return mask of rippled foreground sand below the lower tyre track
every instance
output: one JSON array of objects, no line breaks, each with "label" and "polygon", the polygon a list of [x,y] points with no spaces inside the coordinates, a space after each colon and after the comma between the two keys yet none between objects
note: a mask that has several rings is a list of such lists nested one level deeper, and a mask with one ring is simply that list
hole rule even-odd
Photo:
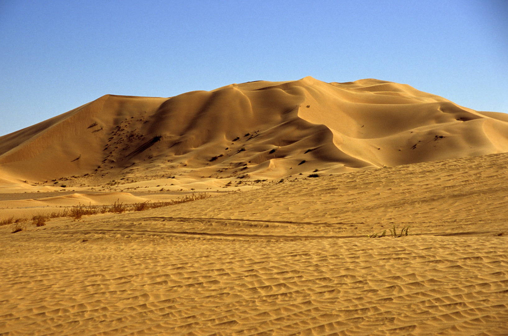
[{"label": "rippled foreground sand below the lower tyre track", "polygon": [[[32,246],[18,241],[0,272],[0,330],[9,335],[508,331],[504,237],[247,239],[143,231],[147,228],[102,234],[59,228],[30,235]],[[90,240],[80,242],[83,238]]]}]

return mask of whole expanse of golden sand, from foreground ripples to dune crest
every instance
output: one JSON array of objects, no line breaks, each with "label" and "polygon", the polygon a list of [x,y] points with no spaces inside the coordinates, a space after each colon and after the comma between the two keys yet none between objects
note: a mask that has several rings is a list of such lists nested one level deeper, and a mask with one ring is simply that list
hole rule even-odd
[{"label": "whole expanse of golden sand, from foreground ripples to dune crest", "polygon": [[306,77],[104,96],[0,137],[3,218],[214,196],[0,226],[0,335],[506,335],[507,127]]}]

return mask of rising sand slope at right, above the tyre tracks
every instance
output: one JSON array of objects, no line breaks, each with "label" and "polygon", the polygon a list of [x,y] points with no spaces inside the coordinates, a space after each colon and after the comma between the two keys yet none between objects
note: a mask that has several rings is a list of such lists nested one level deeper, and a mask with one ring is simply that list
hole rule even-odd
[{"label": "rising sand slope at right, above the tyre tracks", "polygon": [[[297,175],[269,189],[182,204],[173,217],[208,217],[316,224],[391,223],[462,226],[485,230],[505,223],[508,154],[461,158],[317,178]],[[320,173],[317,172],[317,175]],[[220,206],[214,206],[220,202]],[[157,210],[154,210],[157,213]],[[164,209],[158,210],[161,215]],[[481,223],[489,223],[485,226]],[[439,226],[436,226],[439,224]]]}]

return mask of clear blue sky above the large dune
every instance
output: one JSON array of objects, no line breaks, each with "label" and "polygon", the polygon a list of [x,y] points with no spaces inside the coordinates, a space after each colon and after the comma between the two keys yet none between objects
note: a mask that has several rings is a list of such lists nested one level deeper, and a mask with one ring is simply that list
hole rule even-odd
[{"label": "clear blue sky above the large dune", "polygon": [[0,135],[105,94],[305,76],[508,112],[508,1],[0,0]]}]

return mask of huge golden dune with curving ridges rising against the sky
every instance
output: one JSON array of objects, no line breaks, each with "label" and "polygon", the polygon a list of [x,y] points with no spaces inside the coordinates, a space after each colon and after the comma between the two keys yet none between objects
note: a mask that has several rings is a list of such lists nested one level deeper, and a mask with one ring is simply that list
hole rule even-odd
[{"label": "huge golden dune with curving ridges rising against the sky", "polygon": [[279,178],[508,151],[508,119],[376,79],[106,95],[0,137],[7,179]]}]

